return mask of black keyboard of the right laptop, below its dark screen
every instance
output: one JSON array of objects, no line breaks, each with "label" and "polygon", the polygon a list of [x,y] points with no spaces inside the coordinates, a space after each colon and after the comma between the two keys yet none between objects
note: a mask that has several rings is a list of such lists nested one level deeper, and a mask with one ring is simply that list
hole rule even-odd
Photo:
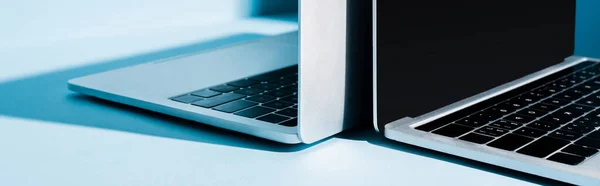
[{"label": "black keyboard of the right laptop, below its dark screen", "polygon": [[582,62],[416,127],[578,165],[600,149],[600,65]]}]

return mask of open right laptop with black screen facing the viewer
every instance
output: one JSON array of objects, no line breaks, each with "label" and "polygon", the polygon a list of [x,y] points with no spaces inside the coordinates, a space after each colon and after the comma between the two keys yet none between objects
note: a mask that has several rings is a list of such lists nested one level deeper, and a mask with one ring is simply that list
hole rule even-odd
[{"label": "open right laptop with black screen facing the viewer", "polygon": [[600,185],[600,60],[574,0],[373,1],[374,127],[387,138]]}]

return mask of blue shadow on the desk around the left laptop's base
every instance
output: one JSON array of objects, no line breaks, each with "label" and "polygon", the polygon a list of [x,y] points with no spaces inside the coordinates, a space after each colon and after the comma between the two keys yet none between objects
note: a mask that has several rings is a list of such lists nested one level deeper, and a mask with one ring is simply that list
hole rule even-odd
[{"label": "blue shadow on the desk around the left laptop's base", "polygon": [[274,152],[295,152],[310,145],[286,145],[119,103],[71,92],[67,80],[167,57],[197,53],[263,37],[239,34],[93,65],[0,82],[0,115],[50,121],[179,140]]}]

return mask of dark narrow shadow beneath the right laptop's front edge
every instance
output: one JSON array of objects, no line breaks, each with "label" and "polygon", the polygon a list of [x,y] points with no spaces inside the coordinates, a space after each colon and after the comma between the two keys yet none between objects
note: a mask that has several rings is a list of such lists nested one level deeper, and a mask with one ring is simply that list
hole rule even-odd
[{"label": "dark narrow shadow beneath the right laptop's front edge", "polygon": [[358,141],[366,141],[372,145],[378,145],[385,148],[390,148],[402,152],[411,153],[418,156],[425,156],[435,160],[441,160],[465,167],[475,168],[482,171],[491,172],[494,174],[531,182],[539,185],[570,185],[568,183],[559,182],[556,180],[547,179],[544,177],[527,174],[523,172],[518,172],[515,170],[507,169],[504,167],[499,167],[487,163],[482,163],[466,158],[462,158],[459,156],[454,156],[450,154],[445,154],[425,148],[421,148],[418,146],[400,143],[396,141],[392,141],[390,139],[385,138],[382,134],[374,132],[374,129],[371,125],[361,126],[358,128],[354,128],[348,131],[345,131],[341,134],[335,136],[337,138],[349,139],[349,140],[358,140]]}]

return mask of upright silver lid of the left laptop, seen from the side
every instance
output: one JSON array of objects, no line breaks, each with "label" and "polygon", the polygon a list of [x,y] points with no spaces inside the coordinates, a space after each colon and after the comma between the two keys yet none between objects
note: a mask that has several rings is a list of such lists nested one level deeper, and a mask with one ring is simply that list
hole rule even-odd
[{"label": "upright silver lid of the left laptop, seen from the side", "polygon": [[[364,113],[371,110],[371,11],[364,0],[299,1],[298,134],[304,143],[370,122]],[[366,112],[356,114],[360,109]]]}]

